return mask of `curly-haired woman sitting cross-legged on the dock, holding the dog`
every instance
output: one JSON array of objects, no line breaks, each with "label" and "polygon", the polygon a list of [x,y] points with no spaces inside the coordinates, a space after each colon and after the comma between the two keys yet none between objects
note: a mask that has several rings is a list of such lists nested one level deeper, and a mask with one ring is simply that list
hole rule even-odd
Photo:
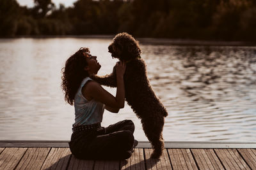
[{"label": "curly-haired woman sitting cross-legged on the dock, holding the dog", "polygon": [[134,142],[134,124],[124,120],[109,127],[101,127],[104,108],[118,113],[124,108],[124,62],[116,66],[116,96],[104,90],[90,76],[100,69],[97,57],[88,48],[80,48],[63,68],[61,87],[65,101],[75,107],[75,123],[69,143],[72,154],[79,159],[127,159]]}]

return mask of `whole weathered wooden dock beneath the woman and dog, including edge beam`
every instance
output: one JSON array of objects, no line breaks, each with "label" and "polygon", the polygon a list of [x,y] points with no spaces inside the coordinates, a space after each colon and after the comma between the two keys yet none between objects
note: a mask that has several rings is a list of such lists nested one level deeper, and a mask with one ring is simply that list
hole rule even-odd
[{"label": "whole weathered wooden dock beneath the woman and dog, including edge beam", "polygon": [[256,169],[256,143],[169,142],[159,160],[149,146],[140,142],[127,160],[100,161],[76,159],[67,141],[0,141],[0,169]]}]

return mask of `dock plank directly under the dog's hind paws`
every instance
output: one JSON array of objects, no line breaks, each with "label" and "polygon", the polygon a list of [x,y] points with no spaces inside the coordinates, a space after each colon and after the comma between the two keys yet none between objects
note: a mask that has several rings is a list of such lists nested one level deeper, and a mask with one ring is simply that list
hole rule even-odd
[{"label": "dock plank directly under the dog's hind paws", "polygon": [[150,155],[153,152],[151,148],[145,148],[145,161],[147,169],[172,169],[168,152],[166,149],[163,150],[163,155],[159,159],[150,159]]}]

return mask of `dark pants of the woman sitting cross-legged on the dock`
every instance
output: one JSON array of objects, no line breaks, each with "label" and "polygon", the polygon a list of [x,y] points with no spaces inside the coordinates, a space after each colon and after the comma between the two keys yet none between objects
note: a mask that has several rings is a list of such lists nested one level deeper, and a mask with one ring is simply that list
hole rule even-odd
[{"label": "dark pants of the woman sitting cross-legged on the dock", "polygon": [[78,159],[128,159],[134,143],[133,132],[133,122],[123,120],[106,128],[73,132],[69,147]]}]

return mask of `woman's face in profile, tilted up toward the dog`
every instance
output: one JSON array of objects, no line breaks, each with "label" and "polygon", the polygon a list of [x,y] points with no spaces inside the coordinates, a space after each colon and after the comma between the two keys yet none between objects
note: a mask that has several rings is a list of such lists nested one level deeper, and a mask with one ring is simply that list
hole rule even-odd
[{"label": "woman's face in profile, tilted up toward the dog", "polygon": [[84,67],[89,74],[97,74],[100,69],[100,64],[97,61],[97,57],[91,55],[90,53],[85,53],[86,62],[88,66]]}]

